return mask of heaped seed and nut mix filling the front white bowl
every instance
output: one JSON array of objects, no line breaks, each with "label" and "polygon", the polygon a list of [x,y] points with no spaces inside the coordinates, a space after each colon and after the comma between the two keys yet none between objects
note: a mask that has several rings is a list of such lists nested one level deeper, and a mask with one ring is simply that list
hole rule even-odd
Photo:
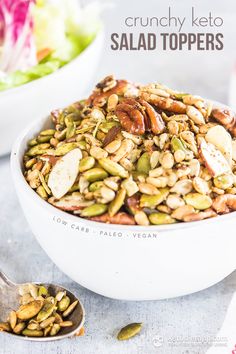
[{"label": "heaped seed and nut mix filling the front white bowl", "polygon": [[236,210],[236,116],[229,109],[111,75],[51,120],[28,142],[24,175],[61,210],[143,226]]}]

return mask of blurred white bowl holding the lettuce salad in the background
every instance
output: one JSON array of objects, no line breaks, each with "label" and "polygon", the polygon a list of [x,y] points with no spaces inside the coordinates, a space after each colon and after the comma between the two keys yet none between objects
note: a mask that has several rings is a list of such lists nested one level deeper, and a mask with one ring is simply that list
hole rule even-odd
[{"label": "blurred white bowl holding the lettuce salad in the background", "polygon": [[19,131],[32,119],[83,97],[97,68],[103,37],[100,32],[80,55],[54,73],[0,92],[0,156],[11,151]]}]

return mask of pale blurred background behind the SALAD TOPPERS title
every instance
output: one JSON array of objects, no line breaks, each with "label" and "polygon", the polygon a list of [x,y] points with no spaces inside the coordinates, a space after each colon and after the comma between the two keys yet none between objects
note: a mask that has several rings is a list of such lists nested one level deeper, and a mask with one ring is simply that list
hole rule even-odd
[{"label": "pale blurred background behind the SALAD TOPPERS title", "polygon": [[[88,1],[84,1],[87,3]],[[165,1],[165,0],[113,0],[103,14],[105,22],[105,44],[95,81],[104,75],[114,73],[117,77],[138,82],[159,81],[180,90],[193,92],[224,103],[228,103],[230,79],[236,62],[236,2],[235,0],[214,1]],[[220,16],[222,27],[216,32],[224,35],[222,51],[112,51],[110,35],[113,32],[127,32],[124,19],[127,16],[165,16],[168,6],[175,16],[191,17],[194,6],[199,16]],[[193,32],[190,20],[185,32]],[[130,28],[130,32],[163,32],[160,28]],[[205,27],[201,32],[214,32]],[[235,92],[231,94],[231,103]]]}]

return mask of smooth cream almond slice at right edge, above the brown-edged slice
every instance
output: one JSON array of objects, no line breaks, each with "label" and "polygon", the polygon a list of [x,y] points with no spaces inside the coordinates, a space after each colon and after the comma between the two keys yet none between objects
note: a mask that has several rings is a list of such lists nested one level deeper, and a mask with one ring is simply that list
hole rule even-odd
[{"label": "smooth cream almond slice at right edge, above the brown-edged slice", "polygon": [[210,128],[205,137],[208,143],[213,144],[226,158],[232,163],[232,139],[227,130],[222,125],[216,125]]}]

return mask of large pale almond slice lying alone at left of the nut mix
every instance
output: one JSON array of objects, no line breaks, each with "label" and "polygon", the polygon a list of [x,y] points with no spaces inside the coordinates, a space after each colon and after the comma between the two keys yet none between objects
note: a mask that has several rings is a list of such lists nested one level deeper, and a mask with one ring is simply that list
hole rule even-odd
[{"label": "large pale almond slice lying alone at left of the nut mix", "polygon": [[48,186],[55,198],[62,198],[75,183],[81,158],[81,150],[76,148],[62,156],[53,166]]}]

